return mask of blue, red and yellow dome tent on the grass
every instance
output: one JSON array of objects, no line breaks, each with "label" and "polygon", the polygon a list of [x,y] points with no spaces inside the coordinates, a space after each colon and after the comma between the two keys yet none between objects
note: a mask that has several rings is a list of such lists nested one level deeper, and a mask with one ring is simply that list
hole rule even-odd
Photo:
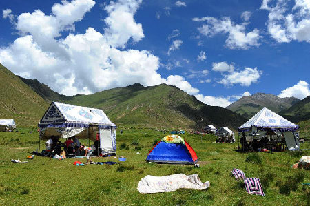
[{"label": "blue, red and yellow dome tent on the grass", "polygon": [[180,136],[168,135],[161,139],[147,155],[147,162],[195,164],[198,157],[193,148]]}]

